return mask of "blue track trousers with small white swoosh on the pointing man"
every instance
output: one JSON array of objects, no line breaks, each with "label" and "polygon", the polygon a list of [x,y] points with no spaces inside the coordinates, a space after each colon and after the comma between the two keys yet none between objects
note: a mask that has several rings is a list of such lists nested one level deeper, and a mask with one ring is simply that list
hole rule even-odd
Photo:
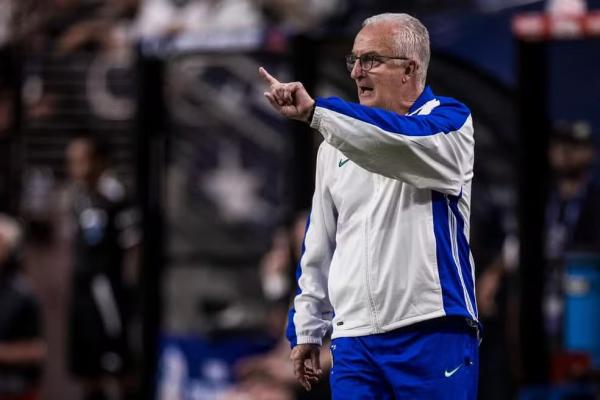
[{"label": "blue track trousers with small white swoosh on the pointing man", "polygon": [[464,319],[438,318],[332,341],[334,400],[475,400],[479,339]]}]

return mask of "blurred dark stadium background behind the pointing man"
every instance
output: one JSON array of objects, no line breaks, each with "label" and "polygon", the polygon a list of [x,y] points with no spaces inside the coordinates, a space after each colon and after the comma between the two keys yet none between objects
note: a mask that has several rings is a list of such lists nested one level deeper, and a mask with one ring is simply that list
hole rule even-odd
[{"label": "blurred dark stadium background behind the pointing man", "polygon": [[[476,131],[480,399],[600,399],[600,1],[0,0],[0,400],[327,399],[283,340],[365,17],[431,36]],[[324,346],[324,365],[328,350]]]}]

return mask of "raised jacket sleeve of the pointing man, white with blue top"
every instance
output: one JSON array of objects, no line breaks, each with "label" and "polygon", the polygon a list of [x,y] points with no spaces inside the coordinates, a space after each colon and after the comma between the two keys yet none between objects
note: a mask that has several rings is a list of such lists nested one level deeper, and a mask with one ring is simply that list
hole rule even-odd
[{"label": "raised jacket sleeve of the pointing man, white with blue top", "polygon": [[458,195],[473,175],[473,125],[452,99],[429,113],[399,115],[339,98],[318,98],[311,126],[361,167],[418,188]]}]

